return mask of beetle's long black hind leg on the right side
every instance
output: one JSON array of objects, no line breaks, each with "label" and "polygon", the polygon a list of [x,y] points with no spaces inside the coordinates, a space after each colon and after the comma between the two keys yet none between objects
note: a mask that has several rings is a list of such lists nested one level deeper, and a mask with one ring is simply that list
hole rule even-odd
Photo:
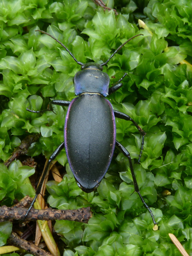
[{"label": "beetle's long black hind leg on the right side", "polygon": [[141,196],[140,194],[140,191],[139,191],[139,187],[138,187],[138,184],[137,184],[137,180],[136,180],[136,177],[135,177],[135,173],[134,173],[134,170],[133,170],[133,165],[132,165],[132,161],[131,161],[131,156],[130,156],[130,153],[127,151],[127,149],[121,144],[119,143],[117,140],[116,140],[116,146],[121,150],[121,152],[124,154],[124,156],[126,156],[129,160],[129,165],[130,165],[130,170],[131,170],[131,174],[132,174],[132,178],[133,178],[133,185],[134,185],[134,189],[135,189],[135,192],[138,193],[138,195],[140,196],[140,199],[142,201],[142,203],[144,204],[144,206],[148,209],[148,211],[150,212],[151,214],[151,218],[153,220],[153,223],[154,225],[156,225],[156,221],[154,219],[154,215],[151,211],[151,209],[148,207],[148,205],[145,203],[145,200],[143,199],[143,197]]}]

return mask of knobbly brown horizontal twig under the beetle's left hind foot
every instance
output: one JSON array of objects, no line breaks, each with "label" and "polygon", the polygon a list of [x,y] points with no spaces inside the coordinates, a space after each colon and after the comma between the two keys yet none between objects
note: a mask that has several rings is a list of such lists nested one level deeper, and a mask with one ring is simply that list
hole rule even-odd
[{"label": "knobbly brown horizontal twig under the beetle's left hind foot", "polygon": [[[0,222],[12,220],[24,220],[27,209],[11,208],[7,206],[0,207]],[[77,210],[55,210],[47,208],[46,210],[36,210],[32,208],[25,218],[25,221],[36,220],[71,220],[87,223],[92,217],[90,207],[84,207]]]}]

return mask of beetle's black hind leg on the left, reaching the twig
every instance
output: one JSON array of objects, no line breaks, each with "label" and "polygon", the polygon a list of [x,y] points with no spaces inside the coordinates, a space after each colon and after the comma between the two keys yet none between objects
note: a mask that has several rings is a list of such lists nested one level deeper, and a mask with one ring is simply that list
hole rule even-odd
[{"label": "beetle's black hind leg on the left, reaching the twig", "polygon": [[37,189],[36,189],[36,192],[35,192],[36,195],[35,195],[35,197],[34,197],[32,203],[31,203],[31,205],[29,206],[29,208],[28,208],[28,210],[27,210],[27,212],[26,212],[24,219],[27,217],[29,211],[31,210],[31,207],[32,207],[33,204],[35,203],[35,200],[36,200],[36,198],[37,198],[37,195],[38,195],[38,194],[40,193],[40,191],[41,191],[41,187],[42,187],[43,181],[44,181],[44,179],[45,179],[45,177],[46,177],[47,171],[49,170],[49,166],[50,166],[51,162],[56,158],[56,156],[61,152],[61,150],[62,150],[63,148],[65,148],[65,142],[62,142],[62,143],[59,145],[59,147],[58,147],[58,148],[52,153],[52,155],[50,156],[49,161],[47,162],[47,164],[46,164],[46,166],[45,166],[45,169],[44,169],[43,175],[42,175],[42,177],[41,177],[41,180],[40,180],[40,182],[39,182],[39,185],[38,185],[38,187],[37,187]]}]

